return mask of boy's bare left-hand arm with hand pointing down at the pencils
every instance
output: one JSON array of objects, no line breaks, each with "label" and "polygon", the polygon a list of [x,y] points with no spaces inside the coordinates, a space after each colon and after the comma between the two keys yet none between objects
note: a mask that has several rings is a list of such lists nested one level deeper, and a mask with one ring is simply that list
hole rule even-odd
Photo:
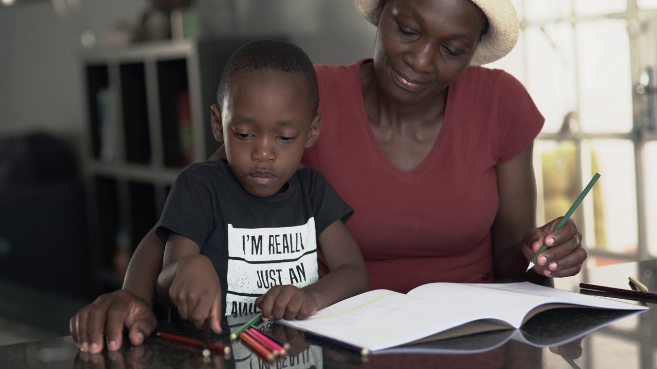
[{"label": "boy's bare left-hand arm with hand pointing down at the pencils", "polygon": [[156,288],[160,297],[177,308],[181,318],[202,329],[209,317],[212,329],[221,333],[219,277],[212,261],[199,251],[196,242],[171,232]]}]

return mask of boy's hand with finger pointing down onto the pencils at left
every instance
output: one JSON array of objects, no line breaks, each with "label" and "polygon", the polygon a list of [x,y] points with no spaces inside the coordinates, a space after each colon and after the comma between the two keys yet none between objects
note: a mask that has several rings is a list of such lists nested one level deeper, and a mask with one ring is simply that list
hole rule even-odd
[{"label": "boy's hand with finger pointing down onto the pencils at left", "polygon": [[209,316],[212,330],[221,333],[221,284],[208,257],[190,255],[177,262],[169,298],[181,318],[203,329]]}]

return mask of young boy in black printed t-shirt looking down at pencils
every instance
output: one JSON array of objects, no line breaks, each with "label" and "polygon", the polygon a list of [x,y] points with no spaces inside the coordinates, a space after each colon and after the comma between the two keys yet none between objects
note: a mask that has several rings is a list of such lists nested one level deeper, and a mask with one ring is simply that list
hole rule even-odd
[{"label": "young boy in black printed t-shirt looking down at pencils", "polygon": [[[229,59],[212,106],[227,160],[178,176],[156,234],[166,243],[157,282],[181,318],[219,333],[226,315],[304,319],[365,292],[367,271],[344,226],[353,209],[321,173],[298,169],[321,128],[312,62],[273,39]],[[317,247],[330,272],[319,279]]]}]

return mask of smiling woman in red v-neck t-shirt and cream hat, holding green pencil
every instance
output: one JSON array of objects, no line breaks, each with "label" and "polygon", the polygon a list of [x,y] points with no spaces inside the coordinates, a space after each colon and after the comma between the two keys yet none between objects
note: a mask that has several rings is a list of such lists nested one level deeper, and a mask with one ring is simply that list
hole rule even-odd
[{"label": "smiling woman in red v-neck t-shirt and cream hat, holding green pencil", "polygon": [[[516,79],[476,66],[514,47],[510,2],[355,4],[377,26],[374,57],[316,67],[323,129],[303,162],[355,209],[348,227],[371,288],[406,292],[426,282],[524,276],[543,242],[551,247],[533,272],[578,273],[586,251],[574,222],[556,232],[558,219],[535,228],[532,142],[543,117]],[[124,290],[101,295],[71,319],[82,351],[100,351],[104,331],[110,350],[120,347],[124,326],[133,344],[152,332],[163,249],[149,233]]]}]

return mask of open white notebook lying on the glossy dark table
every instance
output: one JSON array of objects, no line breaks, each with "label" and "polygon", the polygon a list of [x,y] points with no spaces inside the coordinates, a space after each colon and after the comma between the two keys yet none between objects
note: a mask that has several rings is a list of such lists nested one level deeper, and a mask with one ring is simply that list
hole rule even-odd
[{"label": "open white notebook lying on the glossy dark table", "polygon": [[[541,312],[577,307],[627,312],[648,309],[530,282],[438,282],[424,284],[406,294],[389,290],[361,293],[305,320],[279,322],[313,336],[376,353],[393,347],[499,330],[510,330],[508,340],[514,335],[513,330]],[[516,339],[523,338],[516,334]]]}]

